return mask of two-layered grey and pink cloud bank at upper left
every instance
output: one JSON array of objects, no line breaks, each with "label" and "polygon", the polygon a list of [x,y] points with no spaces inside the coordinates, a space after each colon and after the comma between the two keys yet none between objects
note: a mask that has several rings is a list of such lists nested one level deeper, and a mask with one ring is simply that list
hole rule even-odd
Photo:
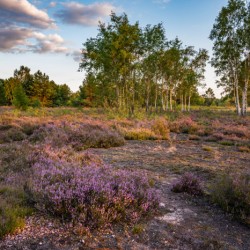
[{"label": "two-layered grey and pink cloud bank at upper left", "polygon": [[27,0],[0,1],[1,52],[65,53],[68,49],[61,36],[41,32],[55,27],[45,11]]}]

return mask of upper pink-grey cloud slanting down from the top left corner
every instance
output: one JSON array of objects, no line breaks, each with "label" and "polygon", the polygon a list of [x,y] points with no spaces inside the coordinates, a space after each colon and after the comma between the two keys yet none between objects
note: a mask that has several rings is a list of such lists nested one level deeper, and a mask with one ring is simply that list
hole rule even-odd
[{"label": "upper pink-grey cloud slanting down from the top left corner", "polygon": [[55,28],[55,23],[48,14],[27,0],[1,0],[0,23],[8,25],[23,23],[42,29]]}]

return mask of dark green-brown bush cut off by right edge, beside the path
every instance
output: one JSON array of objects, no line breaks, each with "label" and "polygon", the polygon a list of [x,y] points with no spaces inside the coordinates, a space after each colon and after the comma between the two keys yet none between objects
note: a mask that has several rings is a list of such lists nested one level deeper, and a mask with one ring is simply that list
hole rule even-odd
[{"label": "dark green-brown bush cut off by right edge, beside the path", "polygon": [[211,199],[250,225],[250,174],[225,174],[210,187]]}]

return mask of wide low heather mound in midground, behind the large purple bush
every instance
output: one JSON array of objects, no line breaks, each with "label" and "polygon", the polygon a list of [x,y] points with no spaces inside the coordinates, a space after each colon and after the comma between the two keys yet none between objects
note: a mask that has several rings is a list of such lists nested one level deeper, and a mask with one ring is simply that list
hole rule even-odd
[{"label": "wide low heather mound in midground, behind the large purple bush", "polygon": [[123,137],[101,123],[48,123],[36,129],[30,140],[46,142],[53,147],[71,145],[76,150],[86,148],[109,148],[124,144]]}]

